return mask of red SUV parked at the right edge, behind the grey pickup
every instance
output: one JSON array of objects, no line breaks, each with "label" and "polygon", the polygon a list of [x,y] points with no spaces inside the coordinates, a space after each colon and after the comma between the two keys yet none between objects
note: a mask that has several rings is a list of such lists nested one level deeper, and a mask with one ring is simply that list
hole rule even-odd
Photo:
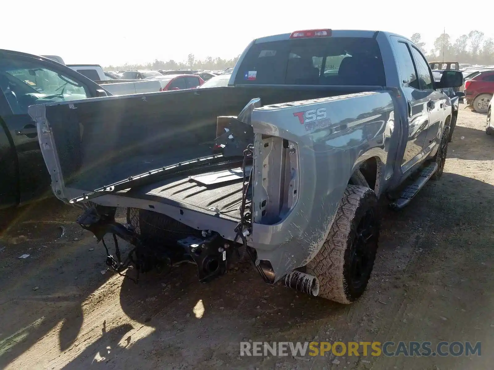
[{"label": "red SUV parked at the right edge, behind the grey pickup", "polygon": [[465,100],[479,113],[487,113],[494,94],[494,70],[483,71],[465,81]]}]

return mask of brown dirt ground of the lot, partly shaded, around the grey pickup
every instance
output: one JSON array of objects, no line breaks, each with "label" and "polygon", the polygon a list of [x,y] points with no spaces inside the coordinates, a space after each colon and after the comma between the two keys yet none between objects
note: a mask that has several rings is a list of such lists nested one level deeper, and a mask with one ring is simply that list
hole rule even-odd
[{"label": "brown dirt ground of the lot, partly shaded, around the grey pickup", "polygon": [[[384,212],[371,283],[352,305],[268,286],[248,264],[209,284],[182,265],[135,285],[105,272],[78,209],[19,209],[0,234],[0,367],[493,369],[494,137],[484,128],[485,115],[461,110],[442,179]],[[248,339],[481,341],[482,356],[240,357]]]}]

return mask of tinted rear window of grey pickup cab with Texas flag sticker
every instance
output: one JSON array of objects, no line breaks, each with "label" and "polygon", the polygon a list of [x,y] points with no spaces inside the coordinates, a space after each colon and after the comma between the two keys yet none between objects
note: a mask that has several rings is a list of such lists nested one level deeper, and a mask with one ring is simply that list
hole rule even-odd
[{"label": "tinted rear window of grey pickup cab with Texas flag sticker", "polygon": [[384,86],[381,52],[371,37],[318,37],[253,44],[235,84]]}]

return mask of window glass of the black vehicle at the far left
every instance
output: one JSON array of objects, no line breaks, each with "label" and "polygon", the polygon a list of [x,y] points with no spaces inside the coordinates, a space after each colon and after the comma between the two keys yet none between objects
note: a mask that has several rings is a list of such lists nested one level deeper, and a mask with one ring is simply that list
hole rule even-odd
[{"label": "window glass of the black vehicle at the far left", "polygon": [[0,74],[9,74],[13,83],[19,81],[29,86],[33,93],[45,95],[86,95],[84,87],[72,78],[48,70],[39,65],[20,60],[5,60],[0,63]]}]

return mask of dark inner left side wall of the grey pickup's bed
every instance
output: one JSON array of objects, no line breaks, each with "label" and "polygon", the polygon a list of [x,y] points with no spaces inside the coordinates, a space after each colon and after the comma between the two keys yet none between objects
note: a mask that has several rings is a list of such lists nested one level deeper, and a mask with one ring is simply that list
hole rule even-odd
[{"label": "dark inner left side wall of the grey pickup's bed", "polygon": [[211,154],[216,117],[247,98],[210,88],[31,106],[55,195],[68,202],[94,189]]}]

